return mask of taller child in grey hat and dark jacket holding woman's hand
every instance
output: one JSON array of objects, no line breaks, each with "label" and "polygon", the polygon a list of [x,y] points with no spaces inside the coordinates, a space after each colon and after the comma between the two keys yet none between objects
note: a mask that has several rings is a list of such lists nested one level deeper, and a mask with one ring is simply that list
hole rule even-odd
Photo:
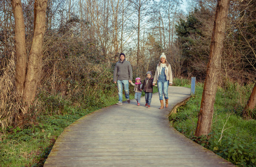
[{"label": "taller child in grey hat and dark jacket holding woman's hand", "polygon": [[146,100],[145,107],[148,106],[148,108],[150,108],[151,99],[153,95],[153,78],[152,78],[151,71],[146,72],[146,78],[143,82],[143,86],[141,89],[144,90],[145,92],[145,100]]}]

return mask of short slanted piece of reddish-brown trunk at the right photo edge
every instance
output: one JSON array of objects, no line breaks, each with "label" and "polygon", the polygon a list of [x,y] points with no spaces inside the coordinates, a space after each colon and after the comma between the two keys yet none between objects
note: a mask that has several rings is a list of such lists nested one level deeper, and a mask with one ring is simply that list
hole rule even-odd
[{"label": "short slanted piece of reddish-brown trunk at the right photo edge", "polygon": [[250,98],[249,98],[246,106],[244,107],[243,117],[250,118],[249,111],[255,109],[255,106],[256,106],[256,83],[254,84],[252,94],[250,94]]}]

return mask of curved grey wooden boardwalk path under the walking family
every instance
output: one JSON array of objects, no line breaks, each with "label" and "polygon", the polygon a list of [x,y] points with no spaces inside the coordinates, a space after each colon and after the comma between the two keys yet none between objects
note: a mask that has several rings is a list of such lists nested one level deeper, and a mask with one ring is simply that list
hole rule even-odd
[{"label": "curved grey wooden boardwalk path under the walking family", "polygon": [[168,115],[190,97],[186,87],[169,87],[169,107],[150,109],[136,101],[92,112],[58,137],[44,166],[235,166],[170,126]]}]

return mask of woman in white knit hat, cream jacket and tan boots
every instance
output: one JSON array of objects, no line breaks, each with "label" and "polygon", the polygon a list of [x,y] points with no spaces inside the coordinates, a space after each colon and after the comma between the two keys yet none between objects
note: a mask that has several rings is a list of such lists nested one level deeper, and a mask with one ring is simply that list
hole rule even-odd
[{"label": "woman in white knit hat, cream jacket and tan boots", "polygon": [[172,68],[170,67],[170,64],[167,62],[164,53],[162,53],[162,55],[160,56],[160,63],[157,65],[157,69],[155,70],[153,86],[155,86],[156,82],[158,86],[159,100],[161,103],[159,109],[163,109],[163,93],[165,99],[165,107],[168,107],[168,86],[171,86],[173,82]]}]

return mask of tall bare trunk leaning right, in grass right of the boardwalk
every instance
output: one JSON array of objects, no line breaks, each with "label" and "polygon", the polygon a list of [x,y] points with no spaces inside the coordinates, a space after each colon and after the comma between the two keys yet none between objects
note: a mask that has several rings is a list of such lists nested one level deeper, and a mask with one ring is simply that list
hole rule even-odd
[{"label": "tall bare trunk leaning right, in grass right of the boardwalk", "polygon": [[211,131],[229,3],[230,0],[218,0],[217,3],[210,46],[210,60],[207,65],[206,80],[203,87],[200,113],[196,127],[196,136],[207,136]]}]

